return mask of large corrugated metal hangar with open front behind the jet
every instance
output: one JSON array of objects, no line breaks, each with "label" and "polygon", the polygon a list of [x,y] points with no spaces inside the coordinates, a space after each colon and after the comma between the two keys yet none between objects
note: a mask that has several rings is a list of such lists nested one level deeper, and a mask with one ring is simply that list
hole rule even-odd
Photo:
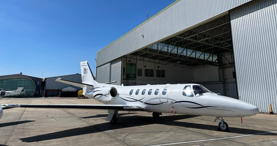
[{"label": "large corrugated metal hangar with open front behind the jet", "polygon": [[277,111],[277,0],[177,0],[97,53],[96,80],[198,83]]}]

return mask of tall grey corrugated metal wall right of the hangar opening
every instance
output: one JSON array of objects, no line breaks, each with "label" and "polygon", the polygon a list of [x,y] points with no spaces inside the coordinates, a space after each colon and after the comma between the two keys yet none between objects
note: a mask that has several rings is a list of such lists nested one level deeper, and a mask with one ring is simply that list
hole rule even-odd
[{"label": "tall grey corrugated metal wall right of the hangar opening", "polygon": [[238,95],[277,112],[277,0],[254,0],[230,11]]}]

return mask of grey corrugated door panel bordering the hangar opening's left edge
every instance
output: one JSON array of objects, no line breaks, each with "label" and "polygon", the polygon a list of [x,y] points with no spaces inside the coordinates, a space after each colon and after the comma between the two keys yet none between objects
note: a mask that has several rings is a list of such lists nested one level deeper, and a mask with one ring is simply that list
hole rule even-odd
[{"label": "grey corrugated door panel bordering the hangar opening's left edge", "polygon": [[121,64],[122,57],[110,62],[110,82],[117,81],[113,85],[121,85]]}]

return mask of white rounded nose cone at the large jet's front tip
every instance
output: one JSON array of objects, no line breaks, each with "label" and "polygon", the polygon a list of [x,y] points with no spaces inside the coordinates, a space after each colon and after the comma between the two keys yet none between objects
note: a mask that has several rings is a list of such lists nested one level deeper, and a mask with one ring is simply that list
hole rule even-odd
[{"label": "white rounded nose cone at the large jet's front tip", "polygon": [[242,114],[241,116],[253,116],[259,112],[258,107],[241,101],[239,103],[239,112]]}]

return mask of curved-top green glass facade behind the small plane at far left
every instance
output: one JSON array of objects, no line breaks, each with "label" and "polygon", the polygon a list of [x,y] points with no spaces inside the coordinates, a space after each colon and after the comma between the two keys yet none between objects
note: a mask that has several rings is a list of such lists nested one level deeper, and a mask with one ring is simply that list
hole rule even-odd
[{"label": "curved-top green glass facade behind the small plane at far left", "polygon": [[26,78],[1,79],[0,88],[6,91],[17,90],[17,87],[23,87],[23,91],[18,96],[34,96],[36,85]]}]

